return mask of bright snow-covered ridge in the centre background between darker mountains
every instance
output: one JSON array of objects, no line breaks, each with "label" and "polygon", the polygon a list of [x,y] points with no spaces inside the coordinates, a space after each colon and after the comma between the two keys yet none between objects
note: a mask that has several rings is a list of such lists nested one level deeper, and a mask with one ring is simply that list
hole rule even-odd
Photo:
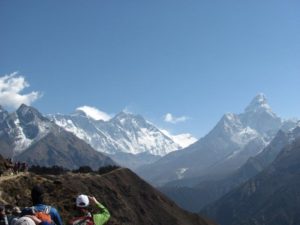
[{"label": "bright snow-covered ridge in the centre background between darker mountains", "polygon": [[121,112],[104,121],[95,120],[87,111],[78,108],[72,115],[57,114],[49,118],[96,150],[108,154],[147,152],[163,156],[182,148],[142,116],[131,113]]}]

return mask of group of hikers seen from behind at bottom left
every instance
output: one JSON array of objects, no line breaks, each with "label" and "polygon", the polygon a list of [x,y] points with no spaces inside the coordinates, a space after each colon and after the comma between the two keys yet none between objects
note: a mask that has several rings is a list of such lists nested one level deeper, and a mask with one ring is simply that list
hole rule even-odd
[{"label": "group of hikers seen from behind at bottom left", "polygon": [[[63,225],[62,218],[55,207],[44,203],[44,190],[36,185],[31,190],[33,206],[20,210],[13,207],[6,210],[0,206],[0,225]],[[78,215],[68,222],[70,225],[104,225],[110,213],[93,196],[80,194],[76,198]]]}]

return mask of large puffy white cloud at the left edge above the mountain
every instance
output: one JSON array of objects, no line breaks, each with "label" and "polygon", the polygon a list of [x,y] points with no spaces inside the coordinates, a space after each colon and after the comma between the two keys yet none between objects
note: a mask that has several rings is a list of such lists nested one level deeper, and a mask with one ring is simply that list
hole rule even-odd
[{"label": "large puffy white cloud at the left edge above the mountain", "polygon": [[0,105],[16,109],[21,104],[31,105],[41,97],[41,94],[37,91],[21,94],[27,87],[29,87],[29,84],[17,72],[0,77]]}]

